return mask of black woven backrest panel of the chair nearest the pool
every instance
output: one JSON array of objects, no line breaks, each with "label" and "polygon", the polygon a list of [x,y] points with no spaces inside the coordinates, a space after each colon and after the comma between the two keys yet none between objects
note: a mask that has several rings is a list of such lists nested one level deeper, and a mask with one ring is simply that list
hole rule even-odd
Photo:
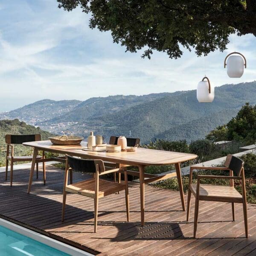
[{"label": "black woven backrest panel of the chair nearest the pool", "polygon": [[88,173],[96,172],[96,166],[95,166],[94,160],[67,156],[67,162],[70,168],[72,168],[76,172],[88,172]]}]

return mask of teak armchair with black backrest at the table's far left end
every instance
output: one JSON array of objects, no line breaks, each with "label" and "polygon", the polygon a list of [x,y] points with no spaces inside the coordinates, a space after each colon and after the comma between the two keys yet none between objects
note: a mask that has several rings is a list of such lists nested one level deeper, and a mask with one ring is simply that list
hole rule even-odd
[{"label": "teak armchair with black backrest at the table's far left end", "polygon": [[[10,172],[10,183],[12,186],[12,179],[13,179],[13,164],[14,162],[22,162],[22,161],[32,161],[33,156],[14,156],[14,145],[15,144],[22,144],[24,142],[30,142],[30,141],[39,141],[41,140],[41,134],[30,134],[30,135],[11,135],[6,134],[6,144],[7,144],[7,150],[6,150],[6,180],[8,175],[8,164],[10,161],[11,166],[11,172]],[[10,154],[11,149],[11,154]],[[44,159],[44,151],[41,156],[36,157],[36,177],[38,178],[38,163],[40,159]],[[45,163],[43,162],[43,172],[44,172],[44,184],[45,184]]]}]

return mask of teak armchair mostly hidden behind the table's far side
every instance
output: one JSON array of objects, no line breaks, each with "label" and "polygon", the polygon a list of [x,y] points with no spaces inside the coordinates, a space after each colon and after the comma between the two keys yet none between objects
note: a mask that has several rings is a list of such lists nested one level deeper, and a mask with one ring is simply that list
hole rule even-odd
[{"label": "teak armchair mostly hidden behind the table's far side", "polygon": [[[117,140],[118,140],[118,137],[116,136],[111,136],[110,139],[109,139],[109,144],[111,145],[117,145]],[[127,146],[128,147],[135,147],[137,145],[140,144],[140,138],[126,138],[127,140]],[[112,167],[112,168],[119,168],[119,172],[117,172],[117,175],[118,175],[118,183],[121,182],[121,173],[124,172],[123,170],[128,167],[129,165],[121,165],[121,164],[116,164],[116,163],[109,163],[109,162],[106,162],[105,163],[106,166],[108,167]],[[125,169],[126,170],[126,169]],[[133,175],[137,175],[139,176],[139,173],[138,172],[134,172],[134,171],[127,171],[128,174],[133,174]],[[114,181],[116,182],[116,173],[114,173]]]}]

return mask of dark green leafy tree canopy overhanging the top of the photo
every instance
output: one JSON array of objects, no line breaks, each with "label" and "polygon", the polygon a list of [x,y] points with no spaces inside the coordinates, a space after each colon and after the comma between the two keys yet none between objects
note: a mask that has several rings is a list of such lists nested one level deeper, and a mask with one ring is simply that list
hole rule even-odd
[{"label": "dark green leafy tree canopy overhanging the top of the photo", "polygon": [[[90,28],[111,31],[126,51],[153,50],[180,58],[182,47],[197,55],[223,51],[232,33],[256,36],[255,0],[57,0],[59,8],[80,6]],[[182,46],[182,47],[181,47]]]}]

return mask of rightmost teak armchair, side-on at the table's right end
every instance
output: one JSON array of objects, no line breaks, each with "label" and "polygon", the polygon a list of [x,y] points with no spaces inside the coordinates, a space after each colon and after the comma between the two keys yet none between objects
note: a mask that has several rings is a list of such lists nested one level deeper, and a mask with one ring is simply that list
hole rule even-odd
[{"label": "rightmost teak armchair, side-on at the table's right end", "polygon": [[[197,183],[192,184],[192,173],[194,169],[223,170],[223,171],[229,171],[230,175],[229,176],[198,175]],[[201,179],[204,179],[204,178],[229,179],[230,186],[201,184],[200,181]],[[242,195],[234,188],[234,179],[241,180]],[[196,236],[196,230],[197,230],[197,224],[198,224],[199,201],[201,200],[230,202],[232,204],[233,221],[235,221],[235,203],[243,204],[245,236],[248,237],[244,162],[241,159],[229,154],[226,157],[224,167],[207,167],[207,166],[191,166],[190,167],[187,221],[189,221],[191,194],[195,196],[194,237]]]}]

